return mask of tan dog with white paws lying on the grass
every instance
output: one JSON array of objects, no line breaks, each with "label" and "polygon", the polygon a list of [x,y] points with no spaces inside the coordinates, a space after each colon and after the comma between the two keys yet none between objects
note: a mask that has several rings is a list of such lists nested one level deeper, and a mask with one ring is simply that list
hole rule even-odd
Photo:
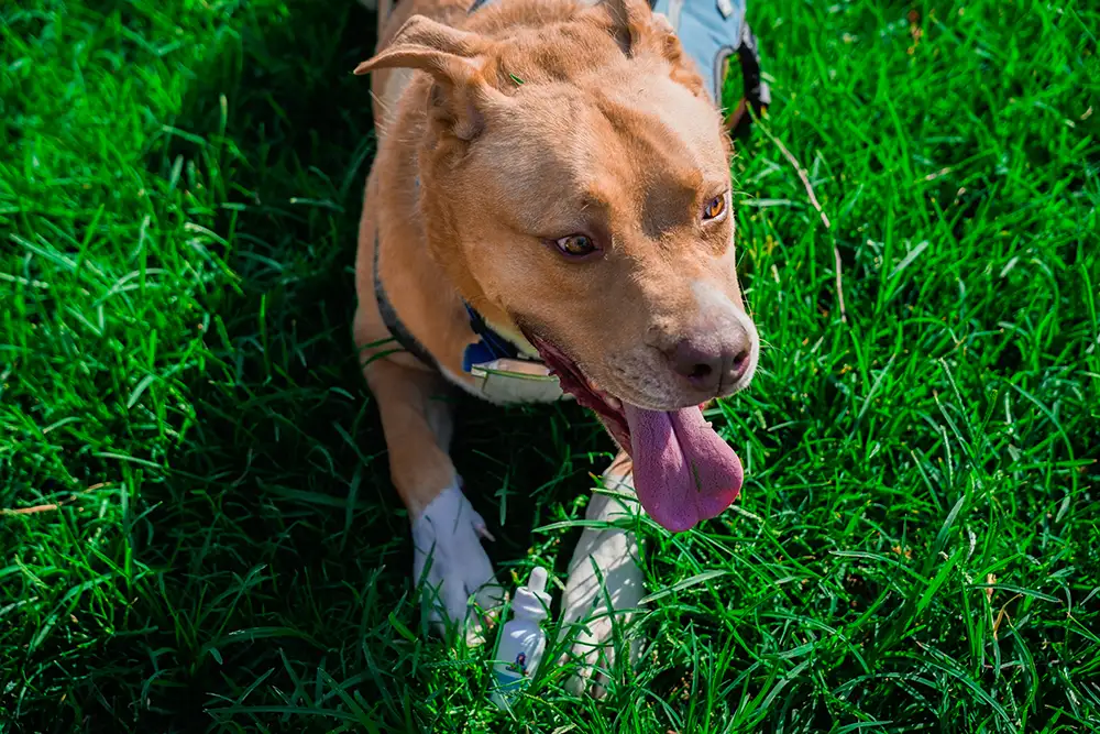
[{"label": "tan dog with white paws lying on the grass", "polygon": [[[618,454],[594,494],[562,610],[585,622],[572,683],[603,684],[615,610],[642,599],[646,512],[722,513],[741,465],[701,405],[752,380],[759,337],[735,266],[730,138],[646,0],[380,3],[378,147],[355,266],[354,339],[408,510],[436,628],[499,605],[492,535],[449,456],[462,390],[575,399]],[[601,588],[600,579],[603,580]],[[606,609],[607,606],[612,609]],[[635,648],[636,651],[637,648]]]}]

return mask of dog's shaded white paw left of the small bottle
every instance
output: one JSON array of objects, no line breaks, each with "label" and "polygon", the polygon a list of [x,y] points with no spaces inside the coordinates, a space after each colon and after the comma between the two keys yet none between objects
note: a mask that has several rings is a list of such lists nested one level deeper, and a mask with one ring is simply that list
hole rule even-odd
[{"label": "dog's shaded white paw left of the small bottle", "polygon": [[470,645],[484,642],[480,615],[504,599],[482,538],[493,539],[485,521],[453,486],[413,522],[413,578],[424,583],[431,628],[443,635],[450,625],[464,627]]}]

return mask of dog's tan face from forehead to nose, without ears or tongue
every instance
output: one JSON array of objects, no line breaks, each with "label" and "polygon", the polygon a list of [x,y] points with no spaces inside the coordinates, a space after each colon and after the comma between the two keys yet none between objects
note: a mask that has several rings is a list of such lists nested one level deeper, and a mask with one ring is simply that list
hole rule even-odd
[{"label": "dog's tan face from forehead to nose, without ears or tongue", "polygon": [[722,120],[630,66],[520,90],[441,180],[470,194],[451,212],[484,298],[600,391],[668,410],[747,385],[758,342]]}]

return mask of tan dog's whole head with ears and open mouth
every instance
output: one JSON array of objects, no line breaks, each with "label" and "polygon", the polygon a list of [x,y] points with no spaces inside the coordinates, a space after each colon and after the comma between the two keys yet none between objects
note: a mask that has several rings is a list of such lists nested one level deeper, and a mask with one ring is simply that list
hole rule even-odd
[{"label": "tan dog's whole head with ears and open mouth", "polygon": [[[429,247],[491,324],[526,337],[634,449],[641,496],[639,440],[683,445],[695,406],[756,370],[723,119],[645,0],[480,15],[468,30],[415,17],[356,72],[428,73],[416,132]],[[724,496],[723,510],[736,489]],[[647,510],[667,527],[712,514]]]}]

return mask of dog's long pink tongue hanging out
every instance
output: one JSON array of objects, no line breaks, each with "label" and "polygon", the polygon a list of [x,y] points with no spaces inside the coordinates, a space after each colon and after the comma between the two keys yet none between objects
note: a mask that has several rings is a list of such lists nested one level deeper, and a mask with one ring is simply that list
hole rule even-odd
[{"label": "dog's long pink tongue hanging out", "polygon": [[741,491],[741,461],[697,407],[673,413],[624,404],[634,486],[641,506],[673,533],[719,515]]}]

